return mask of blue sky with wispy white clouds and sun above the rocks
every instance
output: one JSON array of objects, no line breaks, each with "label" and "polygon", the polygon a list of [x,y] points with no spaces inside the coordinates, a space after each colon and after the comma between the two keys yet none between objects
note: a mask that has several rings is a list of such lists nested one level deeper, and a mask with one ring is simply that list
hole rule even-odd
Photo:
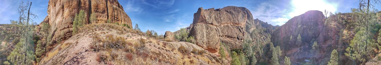
[{"label": "blue sky with wispy white clouds and sun above the rocks", "polygon": [[[17,8],[24,0],[0,1],[0,24],[10,24],[17,20]],[[47,15],[48,0],[30,0],[31,12],[38,15],[34,22],[40,23]],[[292,17],[309,10],[324,12],[351,12],[358,8],[359,0],[119,0],[126,14],[130,16],[133,27],[139,25],[142,31],[155,30],[158,34],[177,31],[193,22],[197,9],[223,8],[226,6],[245,7],[254,19],[271,25],[283,25]],[[379,9],[380,5],[376,5]]]}]

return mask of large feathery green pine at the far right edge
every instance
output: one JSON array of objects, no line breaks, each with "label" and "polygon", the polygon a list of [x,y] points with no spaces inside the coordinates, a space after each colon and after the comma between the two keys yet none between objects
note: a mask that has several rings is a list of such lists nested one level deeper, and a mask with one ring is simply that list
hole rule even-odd
[{"label": "large feathery green pine at the far right edge", "polygon": [[354,19],[359,25],[355,28],[356,34],[350,41],[345,56],[365,64],[366,62],[373,61],[371,56],[375,55],[373,51],[379,46],[373,39],[373,36],[379,30],[379,27],[376,25],[377,17],[374,10],[363,11],[352,9],[352,12],[357,15]]}]

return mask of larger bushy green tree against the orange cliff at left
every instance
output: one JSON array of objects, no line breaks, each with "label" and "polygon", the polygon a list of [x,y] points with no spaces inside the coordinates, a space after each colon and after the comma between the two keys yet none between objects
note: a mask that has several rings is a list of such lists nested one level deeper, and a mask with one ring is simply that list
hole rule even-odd
[{"label": "larger bushy green tree against the orange cliff at left", "polygon": [[75,14],[73,21],[73,34],[76,34],[79,28],[86,23],[86,14],[84,10],[79,11],[79,14]]}]

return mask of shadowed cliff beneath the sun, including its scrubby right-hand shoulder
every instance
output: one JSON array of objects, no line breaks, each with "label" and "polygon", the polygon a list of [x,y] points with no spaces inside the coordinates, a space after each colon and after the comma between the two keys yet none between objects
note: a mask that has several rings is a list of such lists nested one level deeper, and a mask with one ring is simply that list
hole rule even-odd
[{"label": "shadowed cliff beneath the sun, including its scrubby right-hand shoulder", "polygon": [[[314,62],[309,63],[324,65],[329,61],[332,50],[337,50],[339,64],[350,65],[344,52],[354,36],[354,28],[349,26],[352,20],[351,14],[347,13],[331,15],[326,20],[320,11],[307,11],[277,28],[271,34],[271,41],[274,46],[280,46],[282,56],[290,57],[293,63],[311,60]],[[302,40],[300,44],[296,42],[298,34]],[[343,35],[340,37],[340,34]],[[290,36],[293,36],[291,41]],[[312,50],[314,42],[319,45],[317,50]]]}]

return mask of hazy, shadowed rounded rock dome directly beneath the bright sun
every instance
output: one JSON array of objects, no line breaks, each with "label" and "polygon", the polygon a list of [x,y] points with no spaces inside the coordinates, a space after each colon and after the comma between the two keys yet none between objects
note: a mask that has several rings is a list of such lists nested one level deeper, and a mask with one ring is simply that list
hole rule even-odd
[{"label": "hazy, shadowed rounded rock dome directly beneath the bright sun", "polygon": [[[304,14],[293,17],[284,25],[277,28],[271,34],[274,46],[280,46],[284,54],[290,57],[293,62],[304,62],[310,59],[311,41],[318,39],[320,32],[323,31],[325,16],[321,11],[307,11]],[[300,34],[302,43],[296,43]],[[290,36],[293,36],[290,41]],[[312,43],[313,44],[313,43]],[[319,61],[318,61],[319,62]]]}]

